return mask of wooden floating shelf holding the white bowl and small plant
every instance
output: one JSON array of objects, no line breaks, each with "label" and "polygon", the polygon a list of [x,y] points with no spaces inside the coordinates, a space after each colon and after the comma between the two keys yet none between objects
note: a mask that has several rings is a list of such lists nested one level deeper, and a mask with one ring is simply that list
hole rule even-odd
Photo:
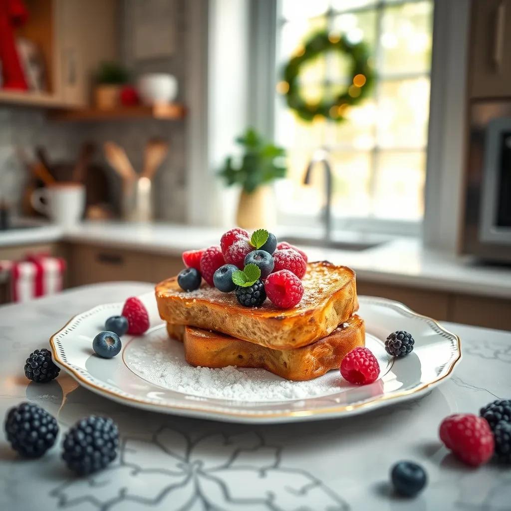
[{"label": "wooden floating shelf holding the white bowl and small plant", "polygon": [[183,119],[186,109],[177,103],[154,106],[124,106],[111,110],[97,108],[76,108],[57,110],[50,114],[56,121],[114,121],[119,119]]}]

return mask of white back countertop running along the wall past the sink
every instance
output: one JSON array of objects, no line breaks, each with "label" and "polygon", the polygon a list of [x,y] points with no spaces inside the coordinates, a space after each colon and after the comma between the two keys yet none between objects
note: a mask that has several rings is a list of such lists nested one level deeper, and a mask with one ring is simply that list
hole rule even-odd
[{"label": "white back countertop running along the wall past the sink", "polygon": [[[178,256],[184,250],[219,244],[222,233],[221,228],[163,223],[88,222],[65,231],[47,226],[0,234],[0,247],[65,240]],[[369,282],[511,298],[511,268],[485,266],[470,258],[424,248],[416,238],[396,238],[360,251],[300,248],[311,261],[350,266],[359,278]]]}]

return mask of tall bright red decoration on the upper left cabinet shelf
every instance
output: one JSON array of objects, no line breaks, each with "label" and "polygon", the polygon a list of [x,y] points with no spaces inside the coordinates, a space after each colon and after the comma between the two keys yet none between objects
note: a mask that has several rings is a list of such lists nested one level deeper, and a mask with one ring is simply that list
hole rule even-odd
[{"label": "tall bright red decoration on the upper left cabinet shelf", "polygon": [[29,88],[16,51],[13,30],[23,25],[27,18],[28,11],[21,0],[0,0],[0,62],[4,89]]}]

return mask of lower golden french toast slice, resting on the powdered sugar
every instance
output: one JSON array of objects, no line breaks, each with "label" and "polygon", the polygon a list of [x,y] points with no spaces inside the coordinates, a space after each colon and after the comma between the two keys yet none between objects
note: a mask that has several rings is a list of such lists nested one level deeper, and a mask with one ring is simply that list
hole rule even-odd
[{"label": "lower golden french toast slice, resting on the powdered sugar", "polygon": [[352,316],[330,335],[296,350],[272,350],[218,332],[167,323],[184,343],[188,363],[200,367],[261,367],[287,380],[312,380],[338,369],[348,352],[365,344],[364,321]]}]

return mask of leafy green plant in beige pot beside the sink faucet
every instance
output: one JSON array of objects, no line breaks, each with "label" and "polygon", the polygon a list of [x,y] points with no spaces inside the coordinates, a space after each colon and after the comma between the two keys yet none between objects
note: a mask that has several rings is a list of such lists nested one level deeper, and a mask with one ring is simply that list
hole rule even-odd
[{"label": "leafy green plant in beige pot beside the sink faucet", "polygon": [[265,141],[253,128],[236,142],[244,148],[244,154],[237,164],[235,157],[227,156],[220,175],[227,186],[241,185],[237,223],[246,229],[271,225],[275,207],[269,184],[285,177],[286,151]]}]

